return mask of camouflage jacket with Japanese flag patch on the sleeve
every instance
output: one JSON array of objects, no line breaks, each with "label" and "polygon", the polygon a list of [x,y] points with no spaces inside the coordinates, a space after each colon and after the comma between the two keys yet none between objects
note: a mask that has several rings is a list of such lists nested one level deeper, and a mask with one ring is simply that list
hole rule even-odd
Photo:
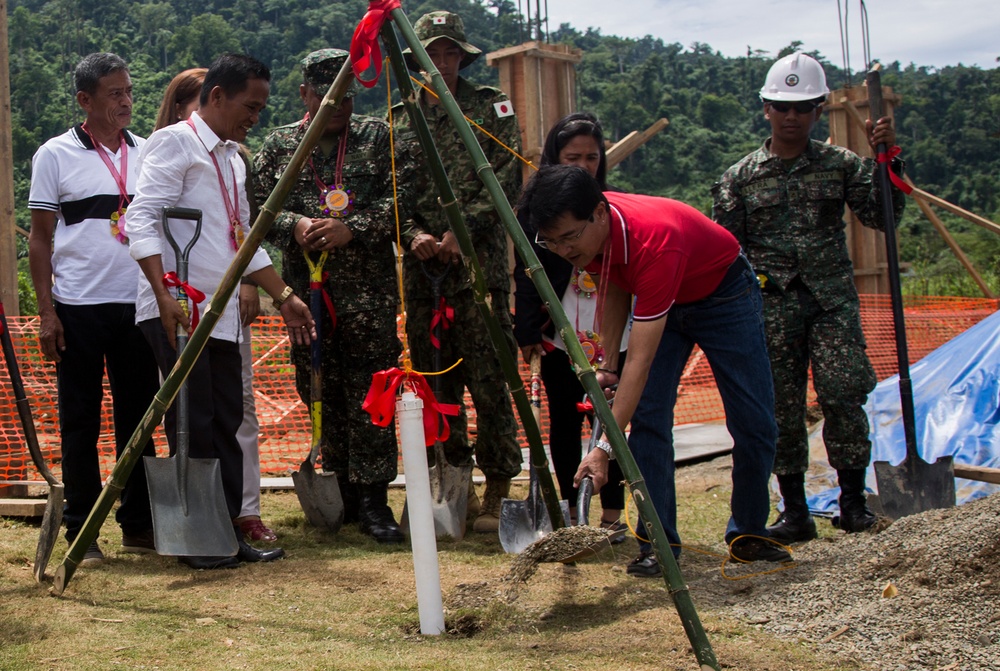
[{"label": "camouflage jacket with Japanese flag patch on the sleeve", "polygon": [[[500,117],[494,107],[495,103],[508,101],[506,94],[490,86],[475,86],[460,77],[455,100],[465,116],[520,153],[521,133],[517,117],[513,114]],[[500,221],[486,187],[476,174],[472,158],[443,106],[421,104],[421,108],[427,118],[434,144],[448,172],[448,179],[461,207],[472,245],[476,248],[486,286],[488,289],[507,291],[510,287],[510,277],[507,263],[507,233],[503,222]],[[413,218],[404,229],[403,245],[409,250],[410,242],[420,233],[430,233],[440,239],[449,230],[448,218],[438,204],[437,187],[429,168],[424,163],[423,150],[402,103],[392,108],[392,115],[399,141],[407,142],[412,147],[420,166],[416,177],[416,205]],[[479,145],[493,167],[508,201],[516,201],[521,189],[521,165],[517,157],[475,127],[472,132],[479,139]],[[403,267],[407,296],[430,297],[430,284],[420,269],[420,261],[407,253]],[[440,269],[433,269],[435,273],[439,271]],[[456,268],[448,274],[441,291],[443,295],[450,296],[469,286],[471,280],[468,271],[464,267]]]}]

